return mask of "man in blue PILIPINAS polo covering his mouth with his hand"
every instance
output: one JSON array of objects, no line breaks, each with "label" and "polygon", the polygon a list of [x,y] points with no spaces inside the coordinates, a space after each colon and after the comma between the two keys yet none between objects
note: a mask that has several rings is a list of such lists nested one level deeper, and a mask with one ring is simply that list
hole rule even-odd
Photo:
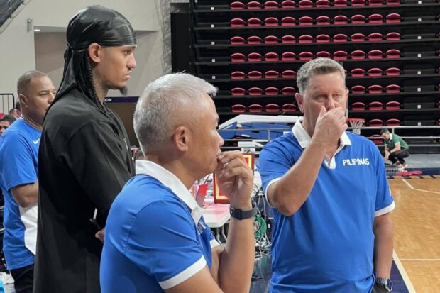
[{"label": "man in blue PILIPINAS polo covering his mouth with his hand", "polygon": [[297,86],[304,118],[258,162],[275,221],[271,292],[388,292],[395,204],[378,148],[345,132],[343,67],[307,62]]}]

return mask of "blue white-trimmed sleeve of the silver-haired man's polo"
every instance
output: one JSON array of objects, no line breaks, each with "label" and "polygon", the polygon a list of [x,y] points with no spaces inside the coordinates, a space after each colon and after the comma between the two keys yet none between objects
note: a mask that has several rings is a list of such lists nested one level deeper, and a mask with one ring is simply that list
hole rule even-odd
[{"label": "blue white-trimmed sleeve of the silver-haired man's polo", "polygon": [[175,287],[207,265],[197,229],[182,204],[150,204],[137,216],[126,245],[126,258],[162,289]]}]

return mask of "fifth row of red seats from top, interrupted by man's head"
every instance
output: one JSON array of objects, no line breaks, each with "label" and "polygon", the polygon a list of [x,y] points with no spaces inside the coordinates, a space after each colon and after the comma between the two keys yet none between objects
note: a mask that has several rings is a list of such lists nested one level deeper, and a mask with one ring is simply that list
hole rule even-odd
[{"label": "fifth row of red seats from top, interrupted by man's head", "polygon": [[[387,76],[397,76],[400,75],[400,69],[397,67],[390,67],[386,70],[381,70],[380,68],[370,68],[369,70],[364,70],[363,68],[354,68],[350,72],[346,72],[346,75],[352,77],[364,77],[368,75],[370,77],[380,77],[385,74]],[[260,72],[258,70],[252,70],[247,74],[241,71],[231,72],[231,79],[261,79],[261,78],[295,78],[297,72],[294,70],[284,70],[281,73],[276,70],[267,70],[266,72]]]}]

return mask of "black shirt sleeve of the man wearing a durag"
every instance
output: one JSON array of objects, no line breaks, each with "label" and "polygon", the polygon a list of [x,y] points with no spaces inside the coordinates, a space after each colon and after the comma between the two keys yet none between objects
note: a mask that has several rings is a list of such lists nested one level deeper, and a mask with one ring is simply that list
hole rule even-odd
[{"label": "black shirt sleeve of the man wearing a durag", "polygon": [[105,214],[130,179],[126,142],[109,123],[89,123],[67,144],[67,165],[84,192]]}]

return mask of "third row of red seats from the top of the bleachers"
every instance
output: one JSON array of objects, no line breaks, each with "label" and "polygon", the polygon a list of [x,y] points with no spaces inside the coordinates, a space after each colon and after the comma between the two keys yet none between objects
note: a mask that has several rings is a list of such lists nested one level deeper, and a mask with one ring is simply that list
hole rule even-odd
[{"label": "third row of red seats from the top of the bleachers", "polygon": [[348,35],[343,33],[338,33],[331,37],[330,35],[317,35],[313,37],[312,35],[299,35],[298,38],[295,38],[294,35],[283,35],[281,38],[278,38],[276,35],[267,35],[264,38],[260,38],[258,35],[251,35],[248,38],[243,38],[239,35],[236,35],[229,39],[229,43],[231,45],[258,45],[261,43],[265,44],[294,44],[294,43],[329,43],[333,41],[334,43],[344,43],[344,42],[365,42],[365,40],[369,40],[370,42],[378,42],[381,40],[400,40],[400,33],[391,32],[385,35],[381,33],[370,33],[369,35],[364,35],[363,33],[353,33],[350,38]]}]

